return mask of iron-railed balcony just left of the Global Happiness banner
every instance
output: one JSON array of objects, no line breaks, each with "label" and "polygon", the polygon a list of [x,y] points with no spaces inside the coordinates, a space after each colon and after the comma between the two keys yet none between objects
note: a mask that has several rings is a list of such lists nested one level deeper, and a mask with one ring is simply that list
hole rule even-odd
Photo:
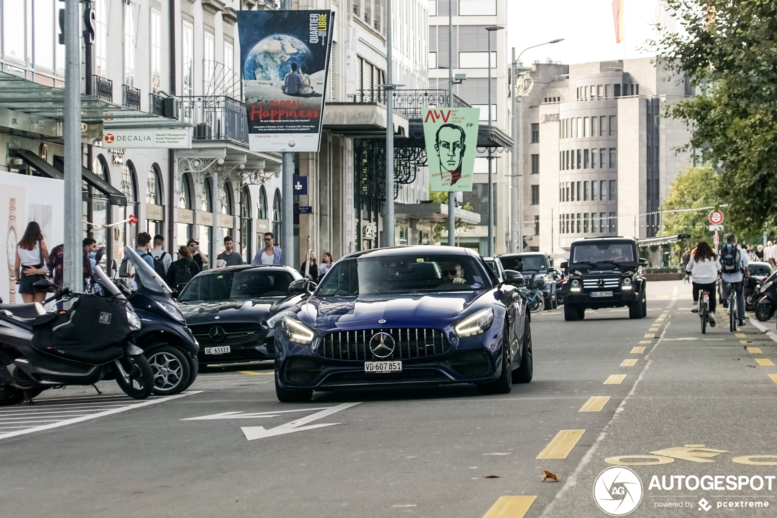
[{"label": "iron-railed balcony just left of the Global Happiness banner", "polygon": [[227,96],[179,97],[181,120],[193,125],[193,141],[248,142],[246,104]]}]

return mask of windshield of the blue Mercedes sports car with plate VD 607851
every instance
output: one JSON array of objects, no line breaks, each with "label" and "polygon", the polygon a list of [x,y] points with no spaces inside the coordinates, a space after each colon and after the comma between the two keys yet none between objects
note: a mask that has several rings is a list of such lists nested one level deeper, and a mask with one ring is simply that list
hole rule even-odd
[{"label": "windshield of the blue Mercedes sports car with plate VD 607851", "polygon": [[340,260],[315,294],[416,294],[481,287],[491,287],[490,276],[470,256],[402,255]]}]

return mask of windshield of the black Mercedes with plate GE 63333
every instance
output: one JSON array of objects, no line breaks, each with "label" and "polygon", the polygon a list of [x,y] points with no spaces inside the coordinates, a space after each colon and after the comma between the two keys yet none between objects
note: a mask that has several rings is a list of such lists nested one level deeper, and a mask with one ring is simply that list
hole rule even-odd
[{"label": "windshield of the black Mercedes with plate GE 63333", "polygon": [[221,271],[194,277],[184,288],[179,302],[228,301],[258,297],[287,297],[294,280],[284,271],[261,269],[238,272]]}]

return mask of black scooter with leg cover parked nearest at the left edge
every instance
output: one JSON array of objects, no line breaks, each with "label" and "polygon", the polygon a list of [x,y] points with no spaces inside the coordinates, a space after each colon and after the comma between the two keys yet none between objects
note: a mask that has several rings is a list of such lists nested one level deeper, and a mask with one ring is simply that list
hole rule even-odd
[{"label": "black scooter with leg cover parked nearest at the left edge", "polygon": [[46,313],[40,302],[0,304],[0,406],[32,404],[47,388],[100,380],[115,380],[134,399],[152,394],[152,368],[132,341],[140,319],[102,268],[92,273],[99,293],[60,289],[48,279],[35,283],[54,291],[44,304],[78,299],[68,311]]}]

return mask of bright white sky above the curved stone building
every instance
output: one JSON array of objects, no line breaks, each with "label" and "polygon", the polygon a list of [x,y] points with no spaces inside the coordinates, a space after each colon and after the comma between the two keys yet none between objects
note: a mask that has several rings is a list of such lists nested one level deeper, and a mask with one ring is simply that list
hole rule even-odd
[{"label": "bright white sky above the curved stone building", "polygon": [[615,43],[612,0],[507,0],[507,60],[526,47],[545,41],[564,41],[529,49],[521,56],[524,65],[535,60],[561,61],[563,64],[607,61],[652,55],[637,50],[656,32],[649,24],[656,17],[656,0],[625,0],[625,42]]}]

